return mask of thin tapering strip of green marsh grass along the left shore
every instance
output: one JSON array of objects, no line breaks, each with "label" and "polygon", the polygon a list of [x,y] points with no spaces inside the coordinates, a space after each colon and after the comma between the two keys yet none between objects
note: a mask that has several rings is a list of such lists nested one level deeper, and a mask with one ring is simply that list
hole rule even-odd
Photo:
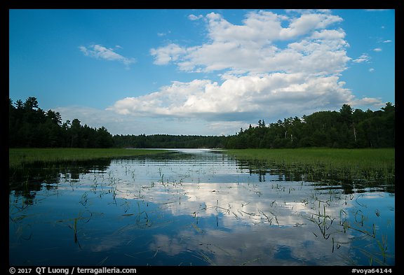
[{"label": "thin tapering strip of green marsh grass along the left shore", "polygon": [[69,160],[92,160],[105,157],[129,157],[165,153],[166,150],[125,148],[10,148],[8,167],[21,167],[32,162],[58,162]]}]

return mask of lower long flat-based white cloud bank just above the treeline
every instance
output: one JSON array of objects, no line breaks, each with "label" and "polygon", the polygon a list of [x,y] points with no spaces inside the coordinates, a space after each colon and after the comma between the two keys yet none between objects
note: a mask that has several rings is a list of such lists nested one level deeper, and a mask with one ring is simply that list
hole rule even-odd
[{"label": "lower long flat-based white cloud bank just above the treeline", "polygon": [[[271,73],[224,80],[173,82],[141,97],[126,97],[108,110],[123,115],[243,120],[332,108],[351,101],[337,76],[307,77],[302,73]],[[258,113],[255,115],[255,113]]]}]

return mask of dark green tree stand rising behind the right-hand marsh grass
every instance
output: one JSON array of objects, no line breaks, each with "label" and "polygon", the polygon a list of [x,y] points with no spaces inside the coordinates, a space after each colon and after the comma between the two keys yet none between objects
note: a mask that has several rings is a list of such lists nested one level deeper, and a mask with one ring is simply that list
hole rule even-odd
[{"label": "dark green tree stand rising behind the right-hand marsh grass", "polygon": [[226,148],[391,148],[395,147],[396,108],[388,102],[379,111],[355,111],[344,104],[337,111],[320,111],[302,118],[285,118],[241,129],[229,136]]}]

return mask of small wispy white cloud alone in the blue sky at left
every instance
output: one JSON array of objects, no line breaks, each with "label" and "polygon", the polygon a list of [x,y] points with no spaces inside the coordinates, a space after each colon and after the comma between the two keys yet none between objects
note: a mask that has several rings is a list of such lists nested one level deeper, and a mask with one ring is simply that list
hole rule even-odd
[{"label": "small wispy white cloud alone in the blue sky at left", "polygon": [[[121,49],[120,45],[116,45],[116,48]],[[83,52],[84,55],[88,57],[94,57],[95,59],[104,59],[108,61],[117,61],[123,63],[126,67],[130,66],[136,62],[134,58],[123,57],[119,53],[114,52],[112,48],[105,48],[102,45],[90,45],[85,47],[83,45],[79,46],[79,50]]]}]

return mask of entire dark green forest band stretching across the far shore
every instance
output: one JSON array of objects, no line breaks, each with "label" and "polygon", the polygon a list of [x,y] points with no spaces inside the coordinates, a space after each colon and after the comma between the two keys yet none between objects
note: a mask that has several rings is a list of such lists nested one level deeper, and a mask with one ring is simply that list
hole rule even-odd
[{"label": "entire dark green forest band stretching across the far shore", "polygon": [[240,129],[229,136],[114,135],[105,127],[62,123],[60,113],[39,108],[35,97],[9,99],[9,148],[394,148],[396,108],[390,102],[378,111],[318,111]]}]

